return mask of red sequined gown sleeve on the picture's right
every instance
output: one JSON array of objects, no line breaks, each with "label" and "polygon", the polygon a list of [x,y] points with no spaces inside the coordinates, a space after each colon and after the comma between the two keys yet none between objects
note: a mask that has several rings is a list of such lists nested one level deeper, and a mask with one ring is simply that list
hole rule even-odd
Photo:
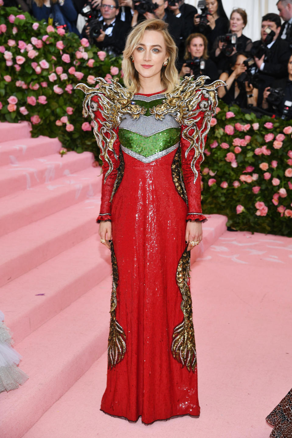
[{"label": "red sequined gown sleeve on the picture's right", "polygon": [[[202,97],[202,100],[207,100]],[[199,106],[197,106],[196,109],[198,109]],[[209,110],[211,111],[211,108],[209,107]],[[194,111],[195,113],[195,111]],[[193,169],[191,168],[191,162],[193,160],[193,157],[197,151],[203,151],[204,145],[207,139],[207,133],[210,128],[210,120],[204,120],[204,111],[200,111],[197,113],[197,116],[195,119],[197,120],[196,125],[197,129],[200,132],[201,131],[201,137],[202,137],[202,143],[201,148],[199,147],[198,141],[200,138],[200,135],[197,137],[194,147],[190,149],[186,156],[186,151],[190,146],[190,141],[183,138],[181,134],[180,139],[180,147],[181,147],[181,161],[182,161],[182,170],[183,170],[183,181],[186,188],[186,195],[188,198],[189,203],[189,211],[186,216],[186,220],[200,220],[200,221],[206,221],[207,218],[202,213],[201,208],[201,177],[200,177],[200,166],[202,161],[202,155],[200,154],[197,158],[197,161],[194,165],[195,169],[197,170],[197,178],[195,179],[195,174],[193,172]],[[210,117],[211,119],[211,117]],[[186,125],[182,125],[181,127],[181,133],[187,128]],[[190,128],[187,133],[190,137],[193,136],[195,130],[193,128]],[[204,134],[205,137],[204,137]],[[195,181],[195,182],[194,182]]]}]

